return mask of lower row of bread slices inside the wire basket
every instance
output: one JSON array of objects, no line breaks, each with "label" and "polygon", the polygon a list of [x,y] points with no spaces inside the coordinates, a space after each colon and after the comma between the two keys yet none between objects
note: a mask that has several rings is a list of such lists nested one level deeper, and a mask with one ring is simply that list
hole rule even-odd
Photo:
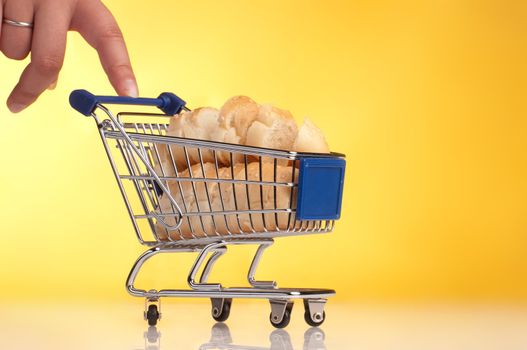
[{"label": "lower row of bread slices inside the wire basket", "polygon": [[[218,181],[204,182],[196,180],[208,179],[236,179],[259,181],[265,184],[219,183]],[[195,179],[194,185],[189,181],[168,181],[168,188],[173,198],[184,212],[183,221],[178,230],[168,232],[161,224],[155,227],[160,240],[167,240],[168,234],[173,240],[181,238],[213,237],[228,235],[285,230],[289,224],[289,214],[285,212],[270,212],[258,214],[232,214],[229,211],[247,210],[275,210],[291,207],[292,187],[275,186],[274,183],[291,183],[293,168],[277,165],[276,174],[272,163],[262,163],[260,178],[260,163],[238,163],[233,167],[218,169],[213,164],[196,164],[180,174],[180,178]],[[296,190],[295,190],[296,191]],[[293,193],[293,198],[296,194]],[[214,214],[213,214],[214,212]],[[168,225],[175,225],[177,214],[173,210],[166,194],[160,198],[158,213],[173,214],[165,217]],[[192,214],[201,213],[201,216]],[[209,214],[207,214],[209,213]],[[189,215],[190,214],[190,215]],[[291,220],[291,224],[293,221]],[[192,232],[194,235],[192,235]]]}]

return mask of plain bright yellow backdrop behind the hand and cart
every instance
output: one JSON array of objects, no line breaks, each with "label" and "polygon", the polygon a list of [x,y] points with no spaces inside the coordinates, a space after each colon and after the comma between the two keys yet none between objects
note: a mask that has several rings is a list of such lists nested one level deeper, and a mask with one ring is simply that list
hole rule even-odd
[{"label": "plain bright yellow backdrop behind the hand and cart", "polygon": [[[247,94],[309,116],[348,157],[334,233],[278,240],[259,276],[354,300],[527,300],[524,1],[106,1],[141,95]],[[0,61],[5,100],[25,63]],[[58,88],[0,107],[0,297],[125,299],[142,251],[95,125],[69,92],[111,94],[69,36]],[[214,279],[243,280],[250,252]],[[184,285],[190,260],[151,264]],[[8,299],[9,300],[9,299]]]}]

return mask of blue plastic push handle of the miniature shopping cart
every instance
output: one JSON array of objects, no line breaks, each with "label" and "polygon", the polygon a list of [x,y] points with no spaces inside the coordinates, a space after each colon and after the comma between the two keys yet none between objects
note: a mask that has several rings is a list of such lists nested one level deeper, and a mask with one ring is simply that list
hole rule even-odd
[{"label": "blue plastic push handle of the miniature shopping cart", "polygon": [[135,98],[125,96],[96,96],[86,90],[75,90],[70,94],[70,105],[85,116],[91,116],[98,104],[155,106],[167,115],[174,115],[185,108],[186,102],[171,92],[158,98]]}]

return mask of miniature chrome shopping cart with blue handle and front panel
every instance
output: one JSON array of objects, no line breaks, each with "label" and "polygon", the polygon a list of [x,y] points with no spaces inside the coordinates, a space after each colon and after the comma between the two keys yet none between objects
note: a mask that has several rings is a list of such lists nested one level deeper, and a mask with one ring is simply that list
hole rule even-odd
[{"label": "miniature chrome shopping cart with blue handle and front panel", "polygon": [[[160,297],[210,298],[212,316],[217,321],[227,319],[233,298],[269,299],[270,320],[278,328],[289,323],[292,300],[303,299],[306,322],[313,326],[322,324],[326,298],[335,294],[333,290],[277,288],[274,281],[256,280],[255,273],[262,253],[274,237],[333,230],[340,216],[343,155],[304,154],[166,136],[166,117],[186,109],[185,102],[170,93],[146,99],[94,96],[77,90],[71,94],[70,103],[82,114],[94,117],[139,242],[151,247],[137,259],[126,282],[131,295],[146,298],[144,315],[150,325],[155,325],[161,316]],[[105,107],[107,104],[156,106],[163,113],[114,115]],[[183,175],[181,165],[178,169],[173,152],[183,155],[187,175]],[[225,157],[230,160],[227,171],[225,167],[220,169],[218,160]],[[212,162],[205,163],[205,158]],[[192,159],[195,164],[191,167]],[[212,166],[213,176],[205,175],[205,166]],[[188,170],[196,167],[198,173]],[[259,177],[249,177],[249,167]],[[267,178],[262,175],[264,169]],[[278,169],[289,169],[287,179],[283,179],[283,174],[278,176]],[[285,204],[277,199],[278,194],[284,198],[284,191],[289,199]],[[226,196],[231,197],[230,206]],[[162,209],[163,201],[170,210]],[[194,207],[187,206],[187,201],[195,203]],[[247,244],[258,246],[248,272],[250,287],[225,288],[207,283],[214,263],[227,246]],[[144,262],[168,252],[198,253],[188,275],[190,289],[136,288],[134,282]]]}]

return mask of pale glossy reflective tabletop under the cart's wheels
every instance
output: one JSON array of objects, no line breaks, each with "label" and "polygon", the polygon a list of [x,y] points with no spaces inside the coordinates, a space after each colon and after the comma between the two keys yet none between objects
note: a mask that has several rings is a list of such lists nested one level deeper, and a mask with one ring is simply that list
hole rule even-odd
[{"label": "pale glossy reflective tabletop under the cart's wheels", "polygon": [[2,349],[527,349],[526,305],[361,305],[330,300],[320,329],[295,303],[285,330],[269,323],[266,301],[234,300],[225,324],[209,303],[163,301],[157,327],[139,299],[110,303],[0,304]]}]

